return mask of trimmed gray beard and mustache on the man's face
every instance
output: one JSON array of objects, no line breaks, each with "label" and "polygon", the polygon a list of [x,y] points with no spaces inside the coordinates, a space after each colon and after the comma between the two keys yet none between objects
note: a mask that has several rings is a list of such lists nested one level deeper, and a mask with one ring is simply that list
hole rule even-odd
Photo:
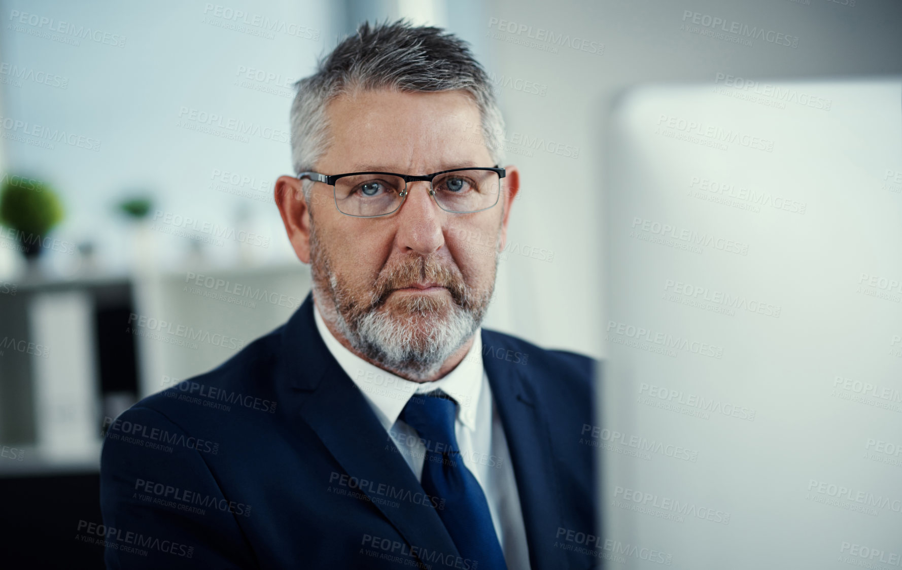
[{"label": "trimmed gray beard and mustache on the man's face", "polygon": [[[310,257],[313,297],[323,317],[336,326],[354,351],[415,382],[425,382],[437,375],[448,357],[482,324],[492,299],[494,279],[491,289],[478,294],[465,285],[456,271],[457,284],[448,288],[452,302],[427,296],[410,297],[396,303],[406,309],[405,314],[392,316],[384,306],[387,294],[384,291],[381,294],[376,286],[369,291],[367,302],[353,299],[332,270],[329,256],[312,226]],[[500,259],[497,247],[494,257],[497,272]],[[434,262],[430,264],[419,257],[418,264],[419,271],[409,267],[399,272],[409,276],[411,271],[419,272],[423,280],[434,280],[431,276],[435,274],[444,275],[444,280],[436,279],[440,283],[453,279],[449,270],[437,270]]]}]

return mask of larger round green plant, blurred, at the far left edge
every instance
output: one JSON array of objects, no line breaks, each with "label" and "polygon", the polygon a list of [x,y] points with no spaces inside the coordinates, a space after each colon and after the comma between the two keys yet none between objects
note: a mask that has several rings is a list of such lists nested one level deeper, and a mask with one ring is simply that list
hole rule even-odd
[{"label": "larger round green plant, blurred, at the far left edge", "polygon": [[0,188],[0,223],[26,238],[43,237],[62,221],[57,193],[46,183],[18,176],[4,177]]}]

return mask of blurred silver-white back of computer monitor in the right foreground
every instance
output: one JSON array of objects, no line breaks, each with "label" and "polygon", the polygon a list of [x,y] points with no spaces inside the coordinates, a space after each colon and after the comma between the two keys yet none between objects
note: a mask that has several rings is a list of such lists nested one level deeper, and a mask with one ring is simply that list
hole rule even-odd
[{"label": "blurred silver-white back of computer monitor in the right foreground", "polygon": [[902,80],[719,73],[607,133],[607,567],[898,567]]}]

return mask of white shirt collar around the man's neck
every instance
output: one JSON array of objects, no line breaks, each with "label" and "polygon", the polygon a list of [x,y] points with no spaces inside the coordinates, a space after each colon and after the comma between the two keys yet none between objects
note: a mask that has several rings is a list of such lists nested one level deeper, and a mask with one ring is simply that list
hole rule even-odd
[{"label": "white shirt collar around the man's neck", "polygon": [[476,404],[482,391],[484,373],[482,327],[476,329],[470,351],[454,370],[434,382],[411,382],[366,362],[345,348],[335,336],[332,336],[319,314],[318,307],[314,309],[313,316],[319,336],[323,338],[329,352],[342,370],[351,377],[357,388],[364,392],[364,398],[370,403],[386,431],[398,420],[401,410],[413,394],[425,394],[437,389],[441,389],[457,401],[458,421],[475,431]]}]

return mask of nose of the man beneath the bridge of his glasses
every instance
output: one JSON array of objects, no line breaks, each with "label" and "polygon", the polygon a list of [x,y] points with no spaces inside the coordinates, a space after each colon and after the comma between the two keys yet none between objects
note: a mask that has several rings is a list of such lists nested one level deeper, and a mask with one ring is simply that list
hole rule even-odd
[{"label": "nose of the man beneath the bridge of his glasses", "polygon": [[401,249],[420,255],[436,253],[445,244],[442,233],[445,211],[429,195],[428,182],[408,182],[407,191],[398,212],[397,243]]}]

